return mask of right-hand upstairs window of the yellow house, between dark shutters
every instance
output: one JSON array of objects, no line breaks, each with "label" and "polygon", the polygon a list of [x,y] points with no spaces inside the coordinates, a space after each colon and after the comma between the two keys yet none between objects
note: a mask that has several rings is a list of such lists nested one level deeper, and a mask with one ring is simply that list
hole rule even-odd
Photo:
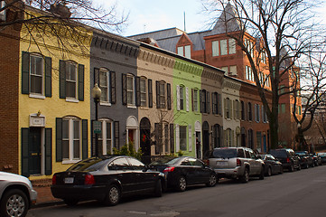
[{"label": "right-hand upstairs window of the yellow house, between dark shutters", "polygon": [[66,97],[77,98],[77,64],[66,62]]}]

